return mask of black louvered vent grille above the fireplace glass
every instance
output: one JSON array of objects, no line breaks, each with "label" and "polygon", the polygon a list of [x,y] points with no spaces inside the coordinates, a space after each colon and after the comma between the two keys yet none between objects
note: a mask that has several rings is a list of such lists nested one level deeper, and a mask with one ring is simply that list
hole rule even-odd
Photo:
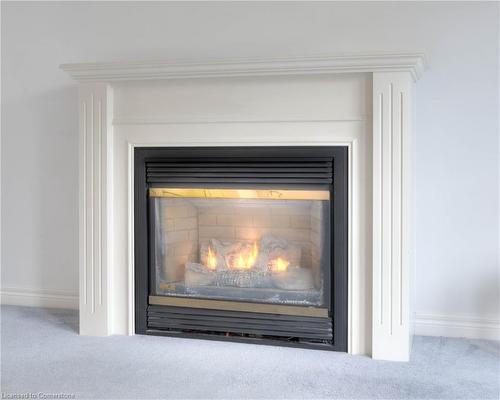
[{"label": "black louvered vent grille above the fireplace glass", "polygon": [[332,183],[328,158],[199,158],[146,161],[148,183],[320,184]]}]

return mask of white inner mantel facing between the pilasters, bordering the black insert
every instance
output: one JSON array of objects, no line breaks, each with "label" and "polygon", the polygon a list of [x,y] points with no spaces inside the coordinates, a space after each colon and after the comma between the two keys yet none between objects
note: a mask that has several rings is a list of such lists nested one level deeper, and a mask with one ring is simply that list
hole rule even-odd
[{"label": "white inner mantel facing between the pilasters, bordering the black insert", "polygon": [[[348,352],[351,354],[367,354],[369,349],[365,346],[365,336],[360,329],[364,325],[364,312],[362,301],[364,296],[365,274],[361,264],[369,262],[365,253],[368,239],[366,238],[366,220],[360,218],[362,204],[368,201],[360,190],[360,182],[367,179],[369,166],[365,157],[367,149],[366,138],[361,135],[365,132],[365,124],[354,124],[349,128],[344,127],[342,133],[337,123],[301,122],[288,125],[286,133],[280,135],[278,124],[265,124],[260,134],[251,136],[252,131],[245,123],[227,126],[226,124],[202,124],[193,129],[182,129],[182,126],[126,126],[115,130],[115,177],[114,192],[115,206],[118,209],[127,209],[126,217],[115,218],[115,232],[127,231],[127,235],[119,235],[122,240],[115,240],[116,258],[115,262],[121,266],[122,271],[127,271],[128,281],[126,283],[127,309],[121,318],[124,324],[117,323],[110,333],[134,334],[134,254],[133,254],[133,170],[134,149],[138,147],[189,147],[189,146],[348,146],[349,148],[349,198],[356,199],[352,202],[350,218],[348,222],[349,249],[351,255],[348,259]],[[186,127],[184,127],[186,128]],[[240,134],[235,135],[238,131]],[[307,140],[303,138],[303,132],[309,132]],[[251,138],[251,139],[250,139]],[[126,193],[126,195],[124,195]],[[121,214],[120,212],[118,214]],[[117,235],[118,236],[118,235]],[[369,236],[371,237],[371,236]],[[125,241],[123,239],[126,239]],[[127,264],[124,269],[123,265]],[[120,272],[116,272],[122,275]],[[115,283],[115,285],[117,285]],[[117,287],[117,286],[116,286]],[[120,291],[118,291],[120,292]],[[115,300],[115,304],[123,304],[122,297]],[[122,314],[122,313],[120,313]],[[124,325],[125,330],[124,330]]]}]

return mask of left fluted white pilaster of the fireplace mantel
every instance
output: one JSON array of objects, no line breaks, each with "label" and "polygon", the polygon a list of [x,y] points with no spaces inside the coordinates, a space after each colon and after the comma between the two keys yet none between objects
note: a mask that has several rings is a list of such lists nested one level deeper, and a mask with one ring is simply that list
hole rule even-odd
[{"label": "left fluted white pilaster of the fireplace mantel", "polygon": [[111,213],[112,90],[104,83],[79,87],[80,334],[108,335],[108,229]]}]

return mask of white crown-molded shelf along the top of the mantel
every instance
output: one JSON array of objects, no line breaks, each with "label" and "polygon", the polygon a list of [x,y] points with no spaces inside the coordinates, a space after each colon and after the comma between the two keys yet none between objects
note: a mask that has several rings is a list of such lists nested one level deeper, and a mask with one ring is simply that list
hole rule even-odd
[{"label": "white crown-molded shelf along the top of the mantel", "polygon": [[218,59],[206,61],[129,61],[62,64],[77,81],[217,78],[354,72],[409,72],[416,81],[427,66],[423,53]]}]

